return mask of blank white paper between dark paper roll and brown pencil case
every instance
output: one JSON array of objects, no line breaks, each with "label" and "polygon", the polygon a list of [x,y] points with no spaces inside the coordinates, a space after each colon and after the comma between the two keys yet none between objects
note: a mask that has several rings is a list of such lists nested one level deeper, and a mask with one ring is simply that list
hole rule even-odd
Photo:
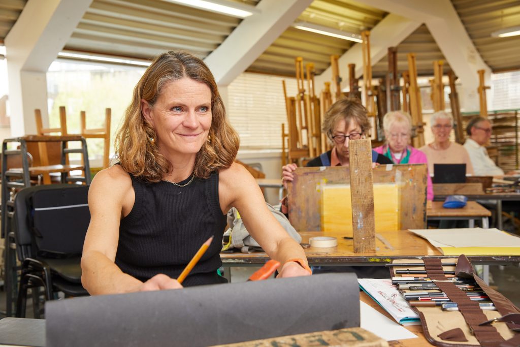
[{"label": "blank white paper between dark paper roll and brown pencil case", "polygon": [[360,301],[361,328],[366,329],[386,341],[417,338],[417,335],[382,315],[368,304]]}]

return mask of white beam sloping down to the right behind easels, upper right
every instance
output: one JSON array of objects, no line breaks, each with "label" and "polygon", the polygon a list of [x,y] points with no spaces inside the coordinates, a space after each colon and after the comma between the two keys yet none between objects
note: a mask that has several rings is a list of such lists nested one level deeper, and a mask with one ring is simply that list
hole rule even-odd
[{"label": "white beam sloping down to the right behind easels, upper right", "polygon": [[[486,81],[489,81],[491,70],[478,54],[450,0],[365,0],[363,3],[423,21],[462,83],[463,88],[459,92],[462,96],[461,107],[465,111],[478,110],[477,70],[486,71]],[[388,33],[388,36],[391,35]]]}]

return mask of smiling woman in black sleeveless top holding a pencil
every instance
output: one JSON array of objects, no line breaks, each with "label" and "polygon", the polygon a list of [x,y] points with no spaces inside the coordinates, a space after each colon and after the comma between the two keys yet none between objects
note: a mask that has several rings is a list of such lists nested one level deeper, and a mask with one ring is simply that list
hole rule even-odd
[{"label": "smiling woman in black sleeveless top holding a pencil", "polygon": [[116,137],[119,163],[90,186],[82,257],[89,293],[180,288],[175,278],[209,238],[183,285],[225,282],[217,269],[232,207],[283,263],[280,277],[309,275],[303,249],[267,210],[251,174],[234,163],[238,146],[204,62],[183,52],[157,57],[137,83]]}]

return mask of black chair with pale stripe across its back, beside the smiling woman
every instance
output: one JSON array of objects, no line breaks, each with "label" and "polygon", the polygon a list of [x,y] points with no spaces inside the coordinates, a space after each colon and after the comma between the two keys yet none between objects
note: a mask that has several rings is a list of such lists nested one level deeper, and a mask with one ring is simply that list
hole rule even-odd
[{"label": "black chair with pale stripe across its back, beside the smiling woman", "polygon": [[22,263],[16,316],[25,316],[27,291],[33,288],[35,317],[40,288],[45,300],[58,292],[88,295],[81,285],[81,252],[90,222],[88,186],[60,184],[28,187],[15,198],[14,229]]}]

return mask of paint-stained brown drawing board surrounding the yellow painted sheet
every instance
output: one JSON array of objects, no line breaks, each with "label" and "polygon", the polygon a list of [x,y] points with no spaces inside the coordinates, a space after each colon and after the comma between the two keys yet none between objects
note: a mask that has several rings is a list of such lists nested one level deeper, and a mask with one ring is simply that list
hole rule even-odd
[{"label": "paint-stained brown drawing board surrounding the yellow painted sheet", "polygon": [[[395,183],[399,188],[399,229],[425,228],[426,165],[381,165],[372,173],[374,183]],[[293,182],[288,184],[289,220],[294,228],[298,232],[323,230],[323,187],[349,183],[348,166],[296,169]]]}]

